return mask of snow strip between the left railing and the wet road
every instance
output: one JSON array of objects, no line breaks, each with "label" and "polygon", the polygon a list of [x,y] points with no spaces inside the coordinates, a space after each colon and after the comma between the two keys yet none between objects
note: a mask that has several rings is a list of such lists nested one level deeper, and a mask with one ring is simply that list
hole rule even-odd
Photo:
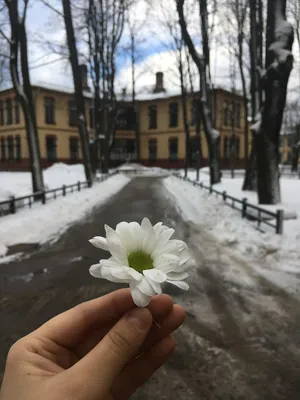
[{"label": "snow strip between the left railing and the wet road", "polygon": [[[56,175],[56,170],[62,168],[58,166],[53,169]],[[16,244],[43,244],[57,241],[72,224],[87,216],[93,207],[104,204],[129,180],[124,174],[118,174],[104,182],[94,184],[91,189],[49,201],[46,205],[36,205],[32,210],[24,208],[16,214],[2,217],[0,256],[5,256],[8,247]]]}]

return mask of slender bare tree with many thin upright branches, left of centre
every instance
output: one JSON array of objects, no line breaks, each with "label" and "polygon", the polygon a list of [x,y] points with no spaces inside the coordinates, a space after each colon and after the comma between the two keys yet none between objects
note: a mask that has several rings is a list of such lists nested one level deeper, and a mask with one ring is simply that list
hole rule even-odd
[{"label": "slender bare tree with many thin upright branches, left of centre", "polygon": [[90,72],[95,89],[96,132],[102,129],[105,135],[103,172],[108,171],[109,152],[115,139],[118,117],[116,56],[128,3],[128,0],[89,0],[86,13]]}]

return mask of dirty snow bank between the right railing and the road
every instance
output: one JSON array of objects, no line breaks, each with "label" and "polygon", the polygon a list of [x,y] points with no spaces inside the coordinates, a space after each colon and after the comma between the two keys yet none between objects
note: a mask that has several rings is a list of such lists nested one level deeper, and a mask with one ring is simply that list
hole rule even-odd
[{"label": "dirty snow bank between the right railing and the road", "polygon": [[[257,231],[250,221],[242,219],[237,211],[224,205],[220,198],[209,195],[206,190],[175,177],[165,179],[164,185],[176,199],[176,205],[186,221],[192,221],[200,228],[208,230],[220,244],[237,250],[247,261],[255,261],[257,269],[264,268],[265,273],[272,270],[300,272],[299,228],[297,233],[294,231],[294,236],[264,234]],[[294,201],[296,199],[293,196]],[[296,221],[285,221],[284,229],[290,223],[297,223],[299,226],[299,220]]]}]

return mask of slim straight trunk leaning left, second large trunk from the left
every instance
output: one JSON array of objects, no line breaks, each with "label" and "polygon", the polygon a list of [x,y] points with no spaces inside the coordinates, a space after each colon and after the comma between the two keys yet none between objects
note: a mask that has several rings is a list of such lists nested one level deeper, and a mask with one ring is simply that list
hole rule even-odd
[{"label": "slim straight trunk leaning left, second large trunk from the left", "polygon": [[74,81],[74,89],[75,89],[75,101],[77,108],[77,117],[78,117],[78,131],[81,142],[81,151],[82,158],[85,170],[86,180],[92,182],[93,180],[93,172],[91,165],[91,158],[89,152],[89,134],[86,124],[86,115],[85,115],[85,104],[83,97],[83,87],[82,87],[82,76],[81,70],[78,63],[78,53],[76,48],[76,40],[74,34],[73,20],[72,20],[72,12],[70,0],[62,0],[63,11],[64,11],[64,20],[65,27],[67,33],[67,42],[70,53],[70,62],[72,66],[73,73],[73,81]]}]

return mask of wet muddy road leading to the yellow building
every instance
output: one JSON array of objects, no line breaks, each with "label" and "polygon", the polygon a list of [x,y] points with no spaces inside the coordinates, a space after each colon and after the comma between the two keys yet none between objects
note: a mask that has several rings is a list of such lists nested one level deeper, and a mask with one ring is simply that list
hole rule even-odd
[{"label": "wet muddy road leading to the yellow building", "polygon": [[171,360],[134,399],[299,399],[299,298],[263,278],[205,226],[184,222],[161,179],[154,177],[133,179],[56,243],[28,247],[28,258],[1,265],[0,373],[15,340],[117,287],[89,275],[101,254],[87,240],[103,235],[104,223],[115,227],[144,216],[173,226],[198,266],[189,292],[166,287],[187,318],[175,333],[178,345]]}]

